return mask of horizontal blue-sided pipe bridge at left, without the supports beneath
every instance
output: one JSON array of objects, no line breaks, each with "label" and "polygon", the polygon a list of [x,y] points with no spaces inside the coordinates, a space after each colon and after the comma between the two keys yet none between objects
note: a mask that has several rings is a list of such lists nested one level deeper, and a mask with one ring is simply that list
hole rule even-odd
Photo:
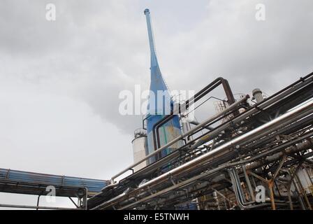
[{"label": "horizontal blue-sided pipe bridge at left, without the supports beneath", "polygon": [[84,179],[73,176],[58,176],[0,169],[0,192],[38,195],[46,186],[57,188],[59,196],[71,197],[79,189],[87,189],[89,197],[101,192],[109,181]]}]

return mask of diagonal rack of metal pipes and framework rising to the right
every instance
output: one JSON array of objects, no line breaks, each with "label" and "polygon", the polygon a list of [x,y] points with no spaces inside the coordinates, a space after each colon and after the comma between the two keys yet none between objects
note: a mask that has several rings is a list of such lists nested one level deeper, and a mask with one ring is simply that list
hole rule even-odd
[{"label": "diagonal rack of metal pipes and framework rising to the right", "polygon": [[[212,97],[223,80],[180,109]],[[222,84],[226,109],[164,146],[158,127],[173,116],[160,120],[153,130],[157,150],[113,176],[88,209],[312,209],[313,73],[257,103],[248,95],[235,101],[228,82]],[[116,181],[181,140],[182,147]]]}]

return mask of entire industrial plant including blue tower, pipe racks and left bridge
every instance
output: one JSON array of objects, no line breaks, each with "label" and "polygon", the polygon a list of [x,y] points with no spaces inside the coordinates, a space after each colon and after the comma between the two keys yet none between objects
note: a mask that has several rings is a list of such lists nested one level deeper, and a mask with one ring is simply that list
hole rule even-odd
[{"label": "entire industrial plant including blue tower, pipe racks and left bridge", "polygon": [[[145,16],[150,90],[168,92],[149,10]],[[217,113],[182,123],[186,111],[201,110],[217,88],[225,93]],[[268,97],[260,89],[234,97],[228,81],[216,78],[178,107],[169,92],[162,100],[169,108],[150,102],[143,127],[135,131],[134,164],[110,181],[1,169],[0,191],[42,195],[53,185],[58,196],[82,199],[78,209],[312,210],[313,73]]]}]

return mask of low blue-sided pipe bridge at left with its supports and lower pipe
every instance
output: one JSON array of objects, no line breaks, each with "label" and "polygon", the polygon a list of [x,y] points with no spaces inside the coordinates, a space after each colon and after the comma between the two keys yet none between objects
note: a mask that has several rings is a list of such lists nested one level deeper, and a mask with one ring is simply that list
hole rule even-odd
[{"label": "low blue-sided pipe bridge at left with its supports and lower pipe", "polygon": [[[48,195],[51,187],[55,190],[56,197],[68,197],[76,209],[87,209],[87,199],[101,192],[109,181],[84,179],[73,176],[58,176],[22,172],[11,169],[0,169],[0,192],[24,195],[38,195],[36,206],[0,204],[0,207],[22,209],[66,209],[59,207],[39,206],[41,196]],[[75,203],[72,197],[77,198]]]}]

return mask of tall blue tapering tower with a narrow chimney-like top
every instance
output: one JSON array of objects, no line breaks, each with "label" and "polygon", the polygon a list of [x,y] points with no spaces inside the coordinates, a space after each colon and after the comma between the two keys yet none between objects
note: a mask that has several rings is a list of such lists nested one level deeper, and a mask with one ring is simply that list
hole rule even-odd
[{"label": "tall blue tapering tower with a narrow chimney-like top", "polygon": [[[150,10],[145,10],[145,16],[147,20],[147,30],[150,43],[150,54],[151,54],[151,83],[150,83],[150,97],[147,108],[147,140],[148,140],[148,153],[152,153],[156,150],[153,143],[152,129],[153,126],[164,116],[170,114],[173,109],[173,100],[171,99],[168,87],[163,80],[159,63],[157,60],[157,53],[154,45],[154,37],[152,32]],[[161,126],[160,130],[160,144],[161,146],[167,144],[169,141],[175,139],[181,134],[180,120],[178,116],[175,116],[172,120],[168,121],[165,125]],[[181,146],[181,142],[177,142],[166,148],[161,152],[161,157],[168,155],[173,148]],[[160,146],[159,146],[160,147]],[[150,158],[149,163],[154,162],[156,158]]]}]

